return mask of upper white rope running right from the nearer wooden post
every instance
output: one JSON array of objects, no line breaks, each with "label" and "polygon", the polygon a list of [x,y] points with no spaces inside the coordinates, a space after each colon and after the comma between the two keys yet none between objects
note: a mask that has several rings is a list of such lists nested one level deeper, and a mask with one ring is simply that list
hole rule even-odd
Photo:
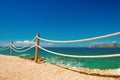
[{"label": "upper white rope running right from the nearer wooden post", "polygon": [[112,36],[117,36],[120,35],[120,32],[116,32],[113,34],[108,34],[108,35],[103,35],[103,36],[98,36],[98,37],[93,37],[93,38],[87,38],[87,39],[81,39],[81,40],[66,40],[66,41],[60,41],[60,40],[48,40],[44,38],[39,38],[40,40],[47,41],[47,42],[55,42],[55,43],[71,43],[71,42],[85,42],[85,41],[91,41],[91,40],[97,40],[97,39],[102,39],[102,38],[108,38]]}]

